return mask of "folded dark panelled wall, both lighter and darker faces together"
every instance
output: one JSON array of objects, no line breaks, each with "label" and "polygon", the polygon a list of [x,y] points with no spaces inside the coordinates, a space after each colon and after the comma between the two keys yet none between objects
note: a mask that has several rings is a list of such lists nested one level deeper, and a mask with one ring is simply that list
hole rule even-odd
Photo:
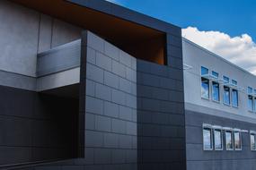
[{"label": "folded dark panelled wall, both lighter and darker faces together", "polygon": [[84,158],[35,169],[185,169],[182,70],[137,60],[88,31],[81,53]]}]

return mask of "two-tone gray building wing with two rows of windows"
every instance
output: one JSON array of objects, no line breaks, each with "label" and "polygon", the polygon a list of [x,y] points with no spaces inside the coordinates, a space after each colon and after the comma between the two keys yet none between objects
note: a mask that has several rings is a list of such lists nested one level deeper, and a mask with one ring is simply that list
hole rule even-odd
[{"label": "two-tone gray building wing with two rows of windows", "polygon": [[187,169],[255,169],[255,75],[183,38]]}]

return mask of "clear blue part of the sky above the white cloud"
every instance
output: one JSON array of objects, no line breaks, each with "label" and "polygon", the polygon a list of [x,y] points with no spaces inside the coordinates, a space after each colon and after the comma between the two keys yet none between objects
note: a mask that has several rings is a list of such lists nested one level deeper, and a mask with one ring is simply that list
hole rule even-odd
[{"label": "clear blue part of the sky above the white cloud", "polygon": [[[249,34],[256,40],[256,0],[117,0],[181,28],[218,30],[230,36]],[[159,3],[161,2],[161,3]]]}]

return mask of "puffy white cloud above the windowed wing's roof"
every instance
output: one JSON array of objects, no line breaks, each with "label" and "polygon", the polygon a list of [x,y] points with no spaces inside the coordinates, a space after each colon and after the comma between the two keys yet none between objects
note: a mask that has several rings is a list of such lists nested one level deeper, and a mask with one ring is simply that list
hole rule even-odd
[{"label": "puffy white cloud above the windowed wing's roof", "polygon": [[232,38],[223,32],[188,27],[182,36],[256,74],[256,44],[248,34]]}]

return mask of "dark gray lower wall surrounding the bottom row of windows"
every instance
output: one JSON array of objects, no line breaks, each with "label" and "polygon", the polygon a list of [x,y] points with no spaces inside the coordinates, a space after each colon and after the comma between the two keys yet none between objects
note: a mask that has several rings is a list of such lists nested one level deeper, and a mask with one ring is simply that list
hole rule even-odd
[{"label": "dark gray lower wall surrounding the bottom row of windows", "polygon": [[242,133],[242,151],[203,151],[202,123],[256,130],[256,124],[186,110],[186,149],[188,170],[254,170],[256,152],[251,151],[249,133]]}]

